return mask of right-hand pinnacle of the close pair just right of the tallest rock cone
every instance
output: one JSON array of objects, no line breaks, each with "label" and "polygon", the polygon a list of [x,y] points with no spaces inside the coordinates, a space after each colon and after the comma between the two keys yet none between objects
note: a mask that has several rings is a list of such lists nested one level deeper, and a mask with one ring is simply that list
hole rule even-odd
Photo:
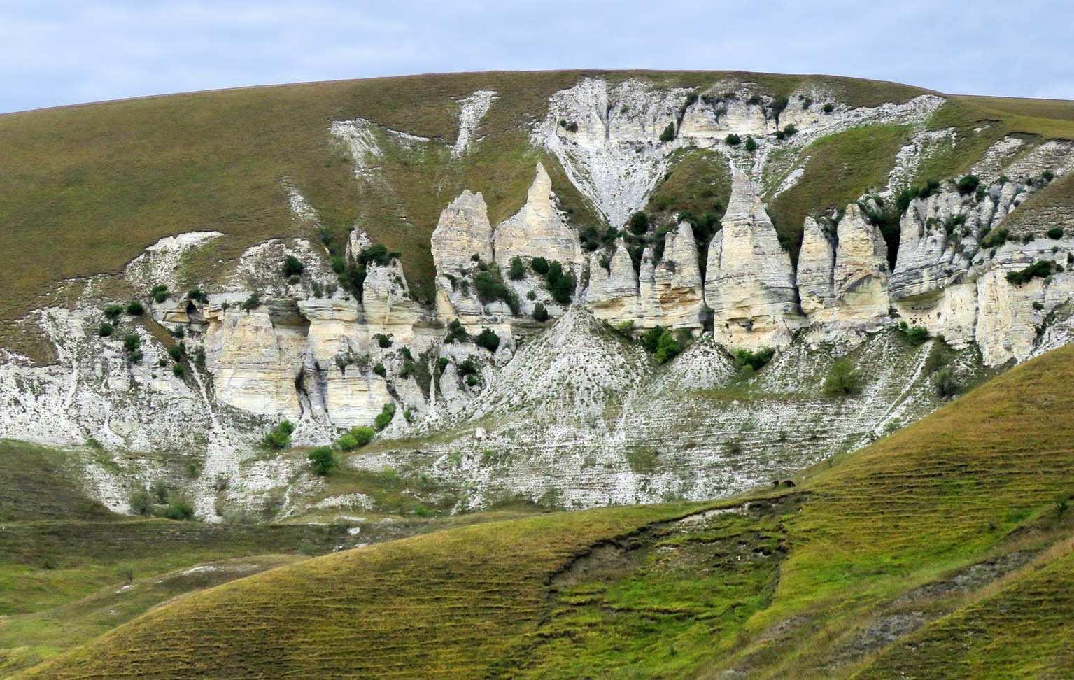
[{"label": "right-hand pinnacle of the close pair just right of the tallest rock cone", "polygon": [[856,203],[846,206],[839,222],[839,245],[832,275],[837,318],[867,321],[886,316],[887,246],[880,229],[869,223]]}]

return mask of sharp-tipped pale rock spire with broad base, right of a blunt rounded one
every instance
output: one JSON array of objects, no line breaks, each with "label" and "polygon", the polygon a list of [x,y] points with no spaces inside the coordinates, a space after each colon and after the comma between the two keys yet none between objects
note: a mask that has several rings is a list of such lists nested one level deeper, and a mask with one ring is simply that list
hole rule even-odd
[{"label": "sharp-tipped pale rock spire with broad base, right of a blunt rounded one", "polygon": [[578,233],[552,205],[552,180],[545,167],[537,163],[537,176],[529,186],[526,203],[518,213],[496,226],[492,235],[496,264],[507,271],[516,257],[524,260],[542,257],[566,265],[579,263],[581,247]]}]

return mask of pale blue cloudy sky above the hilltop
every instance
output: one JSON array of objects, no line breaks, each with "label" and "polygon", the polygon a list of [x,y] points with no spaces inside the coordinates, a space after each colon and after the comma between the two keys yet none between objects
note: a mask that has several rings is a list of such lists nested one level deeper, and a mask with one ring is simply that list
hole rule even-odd
[{"label": "pale blue cloudy sky above the hilltop", "polygon": [[1074,99],[1069,2],[0,0],[0,113],[412,73],[823,73]]}]

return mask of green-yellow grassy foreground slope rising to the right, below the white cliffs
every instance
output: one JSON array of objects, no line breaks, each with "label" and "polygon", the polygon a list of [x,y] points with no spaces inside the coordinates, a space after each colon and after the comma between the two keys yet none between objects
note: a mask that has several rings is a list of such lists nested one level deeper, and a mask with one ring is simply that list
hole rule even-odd
[{"label": "green-yellow grassy foreground slope rising to the right, below the white cliffs", "polygon": [[1070,677],[1071,413],[1066,347],[793,490],[316,558],[14,677]]}]

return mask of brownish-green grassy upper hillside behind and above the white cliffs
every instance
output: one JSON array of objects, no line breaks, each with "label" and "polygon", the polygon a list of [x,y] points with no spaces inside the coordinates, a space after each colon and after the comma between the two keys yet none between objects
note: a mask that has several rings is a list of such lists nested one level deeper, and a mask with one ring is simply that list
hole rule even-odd
[{"label": "brownish-green grassy upper hillside behind and above the white cliffs", "polygon": [[[504,219],[523,203],[536,160],[549,169],[576,227],[599,223],[558,163],[527,141],[529,126],[545,115],[547,98],[587,75],[683,87],[709,87],[734,77],[775,97],[815,84],[851,106],[902,102],[925,92],[815,75],[496,72],[195,92],[8,114],[0,116],[0,204],[8,255],[0,267],[0,321],[78,294],[81,286],[56,284],[115,275],[143,248],[170,234],[226,234],[186,263],[191,285],[214,280],[244,248],[265,238],[317,238],[308,225],[292,218],[287,186],[316,206],[337,243],[359,225],[400,250],[419,290],[433,273],[429,235],[440,209],[469,188],[484,193],[493,222]],[[477,89],[494,89],[499,98],[481,120],[482,141],[475,153],[452,159],[458,100]],[[329,134],[329,126],[359,117],[379,126],[376,133],[384,140],[392,138],[391,131],[402,131],[431,142],[419,150],[382,144],[380,179],[357,180],[349,154]],[[964,170],[987,143],[1008,132],[1074,139],[1074,103],[957,97],[930,126],[970,130],[982,122],[987,130],[927,169],[930,176]],[[861,145],[861,134],[834,136],[802,151],[802,158],[810,157],[809,182],[773,205],[777,225],[792,244],[804,214],[845,205],[869,189],[894,162],[892,149],[904,134],[887,131],[869,146]],[[871,160],[859,168],[856,161],[866,157]],[[848,162],[855,170],[846,175]],[[711,197],[696,194],[698,187],[682,184],[672,183],[664,192],[666,206],[711,202]],[[131,291],[110,279],[97,293],[122,296]],[[0,343],[13,346],[16,339],[8,329]]]}]

